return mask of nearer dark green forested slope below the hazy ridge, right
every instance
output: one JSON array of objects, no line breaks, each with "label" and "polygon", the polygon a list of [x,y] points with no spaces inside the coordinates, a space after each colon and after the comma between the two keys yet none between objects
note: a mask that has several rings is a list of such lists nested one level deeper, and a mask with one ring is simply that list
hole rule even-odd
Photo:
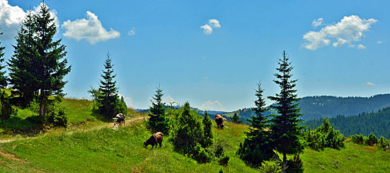
[{"label": "nearer dark green forested slope below the hazy ridge, right", "polygon": [[[390,108],[383,108],[376,113],[360,113],[358,116],[337,116],[329,119],[330,124],[340,130],[345,136],[363,134],[368,136],[374,133],[378,138],[390,138]],[[306,121],[303,125],[308,125],[311,129],[322,124],[322,120]]]}]

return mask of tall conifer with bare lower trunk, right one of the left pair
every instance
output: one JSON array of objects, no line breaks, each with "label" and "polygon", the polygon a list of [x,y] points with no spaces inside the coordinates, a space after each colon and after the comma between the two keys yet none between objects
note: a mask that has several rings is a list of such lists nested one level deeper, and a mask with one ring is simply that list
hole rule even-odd
[{"label": "tall conifer with bare lower trunk, right one of the left pair", "polygon": [[35,86],[39,89],[39,116],[42,118],[47,111],[45,106],[52,103],[49,96],[55,96],[55,101],[61,101],[60,96],[65,95],[62,93],[67,83],[64,77],[70,72],[70,66],[67,67],[65,58],[66,46],[61,44],[61,39],[53,40],[57,33],[55,18],[50,15],[49,7],[44,3],[41,3],[39,8],[34,15],[36,23],[33,35],[38,54],[36,54],[36,60],[33,61],[35,62],[33,67],[30,68],[37,74]]}]

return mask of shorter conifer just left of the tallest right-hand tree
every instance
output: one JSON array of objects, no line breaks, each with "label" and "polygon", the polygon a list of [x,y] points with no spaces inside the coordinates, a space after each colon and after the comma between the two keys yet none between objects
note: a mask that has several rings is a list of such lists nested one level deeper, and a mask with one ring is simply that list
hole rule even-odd
[{"label": "shorter conifer just left of the tallest right-hand tree", "polygon": [[238,155],[242,160],[252,165],[261,165],[264,160],[269,160],[274,152],[272,150],[272,140],[270,134],[267,116],[264,116],[264,112],[267,111],[265,107],[265,101],[262,98],[263,89],[261,84],[257,84],[257,90],[255,96],[255,106],[252,111],[255,112],[255,116],[250,116],[249,125],[250,131],[246,133],[244,143],[240,143],[238,149]]}]

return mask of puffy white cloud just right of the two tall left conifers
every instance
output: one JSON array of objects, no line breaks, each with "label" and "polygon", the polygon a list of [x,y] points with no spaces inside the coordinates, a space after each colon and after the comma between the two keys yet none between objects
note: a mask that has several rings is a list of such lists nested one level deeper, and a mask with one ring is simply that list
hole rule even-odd
[{"label": "puffy white cloud just right of the two tall left conifers", "polygon": [[86,39],[91,45],[97,42],[105,41],[113,38],[118,38],[121,33],[113,28],[107,31],[101,26],[98,16],[91,11],[87,11],[87,19],[77,19],[76,21],[65,21],[62,23],[62,28],[65,29],[63,35],[67,38],[76,40]]}]

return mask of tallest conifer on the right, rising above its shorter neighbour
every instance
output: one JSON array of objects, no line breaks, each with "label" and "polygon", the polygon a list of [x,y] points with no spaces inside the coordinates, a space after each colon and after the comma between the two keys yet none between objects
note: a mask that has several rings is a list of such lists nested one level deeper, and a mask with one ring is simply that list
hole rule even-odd
[{"label": "tallest conifer on the right, rising above its shorter neighbour", "polygon": [[271,119],[272,139],[278,152],[283,154],[283,164],[286,164],[286,155],[299,155],[303,150],[301,143],[303,127],[300,125],[299,98],[296,94],[296,81],[291,79],[291,70],[294,67],[289,62],[289,57],[283,51],[282,58],[278,59],[277,71],[274,76],[274,82],[279,85],[281,91],[275,96],[268,96],[268,99],[275,101],[271,108],[276,108],[278,114],[273,115]]}]

